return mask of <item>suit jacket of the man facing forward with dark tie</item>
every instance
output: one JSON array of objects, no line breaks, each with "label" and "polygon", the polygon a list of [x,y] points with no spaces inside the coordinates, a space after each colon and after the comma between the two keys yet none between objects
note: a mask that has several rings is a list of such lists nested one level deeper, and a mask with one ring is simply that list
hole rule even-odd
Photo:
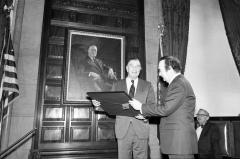
[{"label": "suit jacket of the man facing forward with dark tie", "polygon": [[[126,79],[113,84],[113,91],[127,91]],[[142,103],[155,103],[154,90],[150,82],[138,79],[138,85],[135,99]],[[115,133],[117,138],[123,138],[128,131],[129,124],[132,123],[137,136],[141,139],[147,139],[149,136],[149,123],[134,117],[116,116]]]}]

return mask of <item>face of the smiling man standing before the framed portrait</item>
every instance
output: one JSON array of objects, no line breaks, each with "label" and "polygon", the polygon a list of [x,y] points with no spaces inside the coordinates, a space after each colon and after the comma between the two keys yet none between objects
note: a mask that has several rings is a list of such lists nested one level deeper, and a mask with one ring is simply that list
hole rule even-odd
[{"label": "face of the smiling man standing before the framed portrait", "polygon": [[131,60],[128,62],[128,65],[126,66],[126,70],[128,73],[128,77],[131,79],[138,78],[140,71],[141,71],[141,64],[139,60]]}]

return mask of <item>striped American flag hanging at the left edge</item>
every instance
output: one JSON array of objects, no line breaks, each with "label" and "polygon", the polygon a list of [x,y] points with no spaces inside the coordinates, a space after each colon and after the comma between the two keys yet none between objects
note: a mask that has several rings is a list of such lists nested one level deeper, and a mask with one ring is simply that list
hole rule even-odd
[{"label": "striped American flag hanging at the left edge", "polygon": [[19,96],[15,56],[10,35],[5,44],[2,50],[0,87],[0,104],[3,117],[8,114],[8,105]]}]

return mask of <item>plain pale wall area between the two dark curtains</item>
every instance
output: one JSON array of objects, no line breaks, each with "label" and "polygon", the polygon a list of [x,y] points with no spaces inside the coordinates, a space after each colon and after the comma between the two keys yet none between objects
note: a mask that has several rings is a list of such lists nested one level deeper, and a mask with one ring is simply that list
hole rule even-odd
[{"label": "plain pale wall area between the two dark curtains", "polygon": [[218,0],[191,0],[185,76],[197,109],[211,116],[240,114],[240,77],[228,44]]}]

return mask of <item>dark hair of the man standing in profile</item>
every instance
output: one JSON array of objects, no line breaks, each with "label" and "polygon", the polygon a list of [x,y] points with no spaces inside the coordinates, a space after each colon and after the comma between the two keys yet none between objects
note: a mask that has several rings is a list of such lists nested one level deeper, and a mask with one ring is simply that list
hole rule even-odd
[{"label": "dark hair of the man standing in profile", "polygon": [[162,61],[162,60],[165,61],[165,69],[166,70],[169,70],[170,66],[171,66],[175,72],[181,72],[182,65],[178,58],[173,57],[173,56],[163,56],[160,58],[159,61]]}]

